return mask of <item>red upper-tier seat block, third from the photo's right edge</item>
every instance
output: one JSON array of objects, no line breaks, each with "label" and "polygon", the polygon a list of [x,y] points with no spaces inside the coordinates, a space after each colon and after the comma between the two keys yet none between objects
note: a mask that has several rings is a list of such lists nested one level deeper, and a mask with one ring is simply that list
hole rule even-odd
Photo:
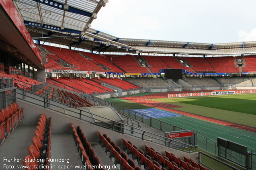
[{"label": "red upper-tier seat block, third from the photo's right edge", "polygon": [[196,72],[214,72],[210,64],[202,57],[182,57]]}]

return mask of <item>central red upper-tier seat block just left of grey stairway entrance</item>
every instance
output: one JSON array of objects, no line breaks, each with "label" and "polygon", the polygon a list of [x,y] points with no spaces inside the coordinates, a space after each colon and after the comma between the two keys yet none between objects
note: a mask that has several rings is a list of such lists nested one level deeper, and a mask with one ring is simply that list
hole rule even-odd
[{"label": "central red upper-tier seat block just left of grey stairway entrance", "polygon": [[117,66],[125,70],[127,73],[149,73],[147,68],[139,66],[139,63],[131,55],[118,56],[114,55],[105,55],[106,58],[115,63]]}]

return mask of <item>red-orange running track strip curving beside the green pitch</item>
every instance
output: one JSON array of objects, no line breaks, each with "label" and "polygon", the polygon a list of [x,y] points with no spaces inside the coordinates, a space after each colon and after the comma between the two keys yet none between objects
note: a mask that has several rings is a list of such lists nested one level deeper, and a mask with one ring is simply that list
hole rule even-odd
[{"label": "red-orange running track strip curving beside the green pitch", "polygon": [[[187,93],[187,91],[186,91],[186,93]],[[156,102],[156,101],[153,101],[153,100],[147,100],[147,99],[151,99],[151,98],[167,98],[167,94],[170,94],[170,92],[164,93],[166,95],[165,97],[162,96],[163,93],[160,93],[160,94],[161,94],[161,96],[156,96],[156,94],[154,94],[154,95],[150,94],[150,95],[146,95],[146,96],[123,97],[121,99],[129,100],[131,102],[140,103],[140,104],[143,104],[143,105],[146,105],[146,106],[151,106],[151,107],[166,110],[166,111],[169,111],[169,112],[174,112],[174,113],[177,113],[177,114],[181,114],[181,115],[185,115],[185,116],[205,120],[205,121],[208,121],[208,122],[213,122],[213,123],[217,123],[217,124],[221,124],[221,125],[225,125],[225,126],[230,126],[230,127],[233,127],[233,128],[238,128],[238,129],[242,129],[242,130],[246,130],[246,131],[249,131],[249,132],[256,133],[256,128],[251,127],[251,126],[232,123],[232,122],[228,122],[228,121],[224,121],[224,120],[218,120],[218,119],[215,119],[215,118],[208,118],[206,116],[200,116],[200,115],[189,113],[189,112],[174,110],[174,109],[171,109],[171,108],[178,108],[178,107],[182,107],[182,106],[176,106],[176,105],[173,105],[173,104],[161,103],[161,102]]]}]

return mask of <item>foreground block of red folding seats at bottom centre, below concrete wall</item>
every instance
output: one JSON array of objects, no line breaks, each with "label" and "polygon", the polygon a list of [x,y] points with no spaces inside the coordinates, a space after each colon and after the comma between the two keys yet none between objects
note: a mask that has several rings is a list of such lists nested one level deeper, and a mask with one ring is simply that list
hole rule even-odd
[{"label": "foreground block of red folding seats at bottom centre, below concrete wall", "polygon": [[[131,141],[122,138],[122,149],[126,151],[125,153],[115,142],[111,141],[107,134],[102,135],[99,131],[98,134],[102,148],[105,148],[105,152],[109,152],[110,158],[114,158],[115,164],[120,164],[121,170],[142,170],[141,166],[145,170],[207,170],[207,168],[185,156],[178,158],[175,154],[167,151],[165,151],[165,155],[162,155],[147,145],[144,145],[144,152],[133,145]],[[131,155],[132,158],[128,159],[127,155]],[[137,161],[135,162],[135,160]]]}]

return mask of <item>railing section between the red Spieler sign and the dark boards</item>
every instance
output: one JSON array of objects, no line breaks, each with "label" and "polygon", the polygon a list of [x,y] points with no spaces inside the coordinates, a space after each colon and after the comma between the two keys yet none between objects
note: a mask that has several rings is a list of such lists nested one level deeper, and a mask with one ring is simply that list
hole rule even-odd
[{"label": "railing section between the red Spieler sign and the dark boards", "polygon": [[199,148],[216,155],[216,142],[197,131],[197,145]]}]

